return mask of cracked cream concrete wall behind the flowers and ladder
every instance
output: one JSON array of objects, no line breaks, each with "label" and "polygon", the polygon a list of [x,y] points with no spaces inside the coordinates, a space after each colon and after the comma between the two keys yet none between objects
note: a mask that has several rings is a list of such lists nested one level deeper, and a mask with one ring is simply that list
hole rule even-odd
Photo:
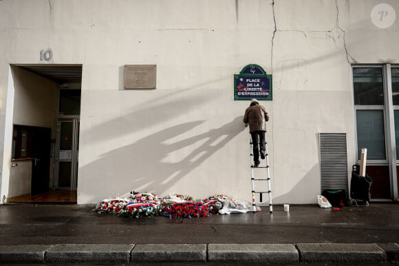
[{"label": "cracked cream concrete wall behind the flowers and ladder", "polygon": [[[78,203],[95,203],[133,189],[249,199],[248,102],[233,100],[233,74],[261,65],[274,203],[314,203],[318,133],[347,133],[356,160],[350,65],[398,63],[398,22],[376,27],[377,3],[5,0],[0,67],[83,65]],[[157,89],[123,90],[129,64],[157,65]]]}]

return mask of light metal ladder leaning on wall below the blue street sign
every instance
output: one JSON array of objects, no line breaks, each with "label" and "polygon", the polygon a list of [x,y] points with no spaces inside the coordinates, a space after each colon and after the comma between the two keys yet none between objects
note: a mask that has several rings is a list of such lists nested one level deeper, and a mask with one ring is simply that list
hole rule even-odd
[{"label": "light metal ladder leaning on wall below the blue street sign", "polygon": [[[250,170],[251,170],[251,185],[252,185],[252,210],[255,213],[257,210],[257,206],[269,206],[270,213],[273,212],[273,206],[272,206],[272,190],[271,190],[271,184],[270,184],[270,166],[269,166],[269,155],[268,155],[268,137],[265,132],[265,146],[266,146],[266,154],[265,154],[265,160],[266,160],[266,166],[257,166],[255,167],[254,163],[254,155],[253,155],[253,148],[252,148],[252,137],[250,135]],[[260,151],[260,148],[259,148]],[[266,168],[266,178],[259,179],[254,177],[254,168]],[[257,191],[255,190],[255,181],[268,181],[267,182],[267,188],[266,190],[261,190]],[[266,184],[264,184],[266,185]],[[264,204],[263,203],[263,194],[267,193],[269,195],[269,203]],[[259,203],[256,203],[256,197],[255,195],[259,194]]]}]

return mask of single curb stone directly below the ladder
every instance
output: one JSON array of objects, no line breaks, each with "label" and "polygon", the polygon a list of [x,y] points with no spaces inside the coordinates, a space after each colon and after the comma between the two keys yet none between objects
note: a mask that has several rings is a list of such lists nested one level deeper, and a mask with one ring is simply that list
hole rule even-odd
[{"label": "single curb stone directly below the ladder", "polygon": [[209,244],[208,261],[247,263],[298,263],[291,244]]}]

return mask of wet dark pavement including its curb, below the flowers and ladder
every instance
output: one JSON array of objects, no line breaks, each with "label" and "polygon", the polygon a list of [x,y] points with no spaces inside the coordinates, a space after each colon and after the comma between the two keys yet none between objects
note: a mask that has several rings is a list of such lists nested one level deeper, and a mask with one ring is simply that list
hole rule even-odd
[{"label": "wet dark pavement including its curb, below the flowers and ladder", "polygon": [[94,206],[0,206],[2,263],[398,261],[399,204],[129,219]]}]

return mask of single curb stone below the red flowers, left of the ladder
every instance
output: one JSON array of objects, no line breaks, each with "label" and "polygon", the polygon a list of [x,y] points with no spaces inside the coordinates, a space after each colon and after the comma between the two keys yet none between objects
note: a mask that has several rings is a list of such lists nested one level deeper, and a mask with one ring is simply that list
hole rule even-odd
[{"label": "single curb stone below the red flowers, left of the ladder", "polygon": [[136,261],[206,262],[206,244],[136,245],[131,262]]}]

